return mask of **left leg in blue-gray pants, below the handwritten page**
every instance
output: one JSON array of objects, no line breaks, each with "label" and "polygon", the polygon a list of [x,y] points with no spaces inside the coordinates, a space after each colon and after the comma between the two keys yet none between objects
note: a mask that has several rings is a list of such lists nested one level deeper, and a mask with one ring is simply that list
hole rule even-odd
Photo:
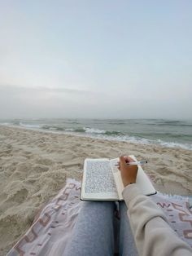
[{"label": "left leg in blue-gray pants, below the handwritten page", "polygon": [[114,207],[115,204],[109,201],[83,202],[72,241],[67,245],[64,255],[113,255]]}]

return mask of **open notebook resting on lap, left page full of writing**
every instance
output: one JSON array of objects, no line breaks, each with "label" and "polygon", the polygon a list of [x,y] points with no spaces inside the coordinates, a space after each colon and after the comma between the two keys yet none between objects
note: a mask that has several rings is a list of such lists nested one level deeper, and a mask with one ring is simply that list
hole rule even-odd
[{"label": "open notebook resting on lap, left page full of writing", "polygon": [[[132,157],[137,161],[136,157]],[[90,159],[86,158],[81,184],[81,200],[83,201],[121,201],[124,184],[120,176],[120,170],[116,167],[119,158],[116,159]],[[138,166],[137,180],[141,192],[150,196],[156,193],[150,179]]]}]

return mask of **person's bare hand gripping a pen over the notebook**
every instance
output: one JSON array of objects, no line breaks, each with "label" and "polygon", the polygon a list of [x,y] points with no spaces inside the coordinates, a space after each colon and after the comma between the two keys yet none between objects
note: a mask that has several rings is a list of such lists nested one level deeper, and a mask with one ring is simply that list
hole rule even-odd
[{"label": "person's bare hand gripping a pen over the notebook", "polygon": [[121,178],[124,183],[124,187],[130,183],[136,183],[137,178],[137,166],[129,166],[128,163],[134,161],[131,157],[120,157],[120,170]]}]

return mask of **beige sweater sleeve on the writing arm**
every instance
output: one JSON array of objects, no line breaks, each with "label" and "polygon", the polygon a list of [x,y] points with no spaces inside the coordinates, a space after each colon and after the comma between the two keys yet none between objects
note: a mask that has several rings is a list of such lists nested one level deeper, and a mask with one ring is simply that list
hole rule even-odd
[{"label": "beige sweater sleeve on the writing arm", "polygon": [[124,188],[122,194],[140,256],[192,255],[190,245],[181,241],[172,230],[163,211],[150,196],[143,196],[136,184]]}]

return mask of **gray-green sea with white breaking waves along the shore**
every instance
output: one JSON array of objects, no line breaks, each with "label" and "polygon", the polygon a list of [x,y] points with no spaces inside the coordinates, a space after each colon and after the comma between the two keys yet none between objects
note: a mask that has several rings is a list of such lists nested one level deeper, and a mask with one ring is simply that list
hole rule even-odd
[{"label": "gray-green sea with white breaking waves along the shore", "polygon": [[0,125],[192,150],[192,121],[62,118],[0,120]]}]

